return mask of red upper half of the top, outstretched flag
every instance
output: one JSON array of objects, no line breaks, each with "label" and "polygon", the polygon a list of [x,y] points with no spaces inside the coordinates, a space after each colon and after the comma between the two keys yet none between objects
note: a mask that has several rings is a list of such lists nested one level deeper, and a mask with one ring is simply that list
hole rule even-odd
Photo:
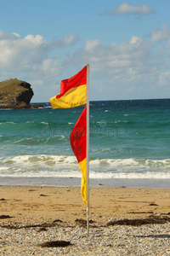
[{"label": "red upper half of the top, outstretched flag", "polygon": [[70,79],[65,79],[61,81],[60,92],[59,95],[56,96],[56,98],[59,99],[67,92],[67,90],[70,90],[71,88],[75,88],[83,84],[87,84],[87,66],[83,67],[79,73],[77,73]]}]

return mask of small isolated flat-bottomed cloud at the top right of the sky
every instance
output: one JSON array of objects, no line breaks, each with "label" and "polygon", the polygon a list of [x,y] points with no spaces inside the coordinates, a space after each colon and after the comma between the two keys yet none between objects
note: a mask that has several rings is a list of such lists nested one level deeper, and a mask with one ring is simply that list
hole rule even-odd
[{"label": "small isolated flat-bottomed cloud at the top right of the sky", "polygon": [[121,3],[116,9],[112,9],[112,15],[150,15],[156,11],[146,3],[139,5],[130,5],[127,2]]}]

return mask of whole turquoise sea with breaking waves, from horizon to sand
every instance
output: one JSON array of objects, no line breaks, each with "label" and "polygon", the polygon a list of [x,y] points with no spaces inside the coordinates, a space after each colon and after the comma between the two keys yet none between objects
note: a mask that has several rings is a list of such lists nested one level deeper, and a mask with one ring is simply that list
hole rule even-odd
[{"label": "whole turquoise sea with breaking waves, from horizon to sand", "polygon": [[[0,110],[0,185],[80,186],[83,106]],[[90,185],[170,188],[170,99],[90,102]]]}]

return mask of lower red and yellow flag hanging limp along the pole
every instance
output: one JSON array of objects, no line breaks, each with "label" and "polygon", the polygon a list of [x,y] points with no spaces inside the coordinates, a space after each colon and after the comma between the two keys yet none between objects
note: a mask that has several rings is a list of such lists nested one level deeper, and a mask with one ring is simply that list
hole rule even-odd
[{"label": "lower red and yellow flag hanging limp along the pole", "polygon": [[77,119],[77,123],[71,131],[71,148],[77,157],[77,161],[82,172],[81,194],[82,200],[88,206],[86,196],[86,131],[87,131],[87,108],[85,107]]}]

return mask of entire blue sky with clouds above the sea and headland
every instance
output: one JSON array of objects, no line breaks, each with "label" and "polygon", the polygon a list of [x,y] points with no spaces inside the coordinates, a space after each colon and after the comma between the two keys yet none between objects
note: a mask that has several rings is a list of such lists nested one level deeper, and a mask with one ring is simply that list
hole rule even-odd
[{"label": "entire blue sky with clouds above the sea and headland", "polygon": [[170,97],[170,1],[1,0],[0,81],[31,102],[90,65],[90,100]]}]

